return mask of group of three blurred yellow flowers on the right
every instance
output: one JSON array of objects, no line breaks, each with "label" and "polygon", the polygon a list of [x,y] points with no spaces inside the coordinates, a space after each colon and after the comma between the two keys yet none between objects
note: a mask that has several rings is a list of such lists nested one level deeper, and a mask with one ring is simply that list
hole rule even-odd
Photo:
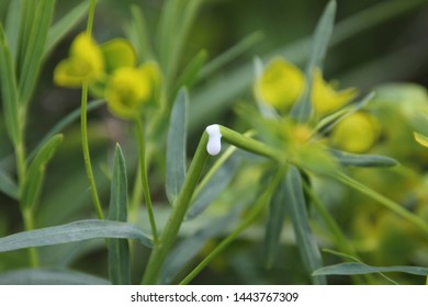
[{"label": "group of three blurred yellow flowers on the right", "polygon": [[[325,81],[319,69],[312,71],[312,80],[311,100],[317,118],[339,111],[358,94],[354,88],[337,90],[335,82]],[[285,114],[299,101],[305,82],[301,69],[283,58],[274,58],[267,64],[256,80],[255,92],[262,103]],[[373,146],[379,138],[379,130],[373,116],[357,112],[343,118],[334,128],[328,141],[336,148],[361,154]]]}]

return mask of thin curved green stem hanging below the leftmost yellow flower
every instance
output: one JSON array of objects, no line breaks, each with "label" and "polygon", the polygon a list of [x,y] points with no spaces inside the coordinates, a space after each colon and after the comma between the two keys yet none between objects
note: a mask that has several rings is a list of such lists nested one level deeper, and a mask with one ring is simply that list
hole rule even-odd
[{"label": "thin curved green stem hanging below the leftmost yellow flower", "polygon": [[81,145],[83,151],[85,168],[87,170],[87,175],[91,189],[93,205],[95,206],[95,211],[97,211],[97,216],[99,219],[104,219],[104,214],[102,213],[100,197],[98,196],[95,180],[93,177],[91,156],[89,152],[87,106],[88,106],[88,83],[85,82],[81,90],[81,110],[80,110]]}]

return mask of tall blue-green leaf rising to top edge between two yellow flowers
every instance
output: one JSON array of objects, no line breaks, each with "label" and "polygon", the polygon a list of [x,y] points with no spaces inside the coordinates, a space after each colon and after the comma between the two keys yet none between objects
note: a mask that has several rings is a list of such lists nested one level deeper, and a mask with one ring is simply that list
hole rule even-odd
[{"label": "tall blue-green leaf rising to top edge between two yellow flowers", "polygon": [[315,68],[323,68],[324,57],[333,34],[335,15],[336,1],[330,0],[315,30],[312,53],[305,71],[306,87],[290,113],[297,122],[307,122],[312,115],[312,76]]}]

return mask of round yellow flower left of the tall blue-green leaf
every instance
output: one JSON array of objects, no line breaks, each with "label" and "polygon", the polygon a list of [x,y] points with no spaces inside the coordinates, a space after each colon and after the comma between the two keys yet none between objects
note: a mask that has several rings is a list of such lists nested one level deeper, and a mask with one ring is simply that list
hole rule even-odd
[{"label": "round yellow flower left of the tall blue-green leaf", "polygon": [[264,103],[286,111],[302,94],[304,86],[302,71],[291,62],[277,58],[267,65],[257,80],[256,91]]}]

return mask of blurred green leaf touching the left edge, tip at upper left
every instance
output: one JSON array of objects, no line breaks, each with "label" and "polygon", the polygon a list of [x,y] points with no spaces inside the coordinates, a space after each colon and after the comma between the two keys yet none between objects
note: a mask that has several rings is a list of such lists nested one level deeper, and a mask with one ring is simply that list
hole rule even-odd
[{"label": "blurred green leaf touching the left edge, tip at upper left", "polygon": [[12,56],[0,24],[0,81],[4,123],[13,144],[20,143],[20,102]]}]

